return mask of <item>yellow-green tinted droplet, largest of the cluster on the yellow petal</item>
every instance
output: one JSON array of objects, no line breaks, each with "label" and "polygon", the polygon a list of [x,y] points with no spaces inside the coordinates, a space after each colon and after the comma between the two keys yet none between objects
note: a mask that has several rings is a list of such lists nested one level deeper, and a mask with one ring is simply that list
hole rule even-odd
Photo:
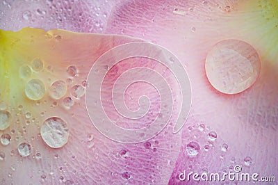
[{"label": "yellow-green tinted droplet, largest of the cluster on the yellow petal", "polygon": [[39,100],[44,97],[45,86],[44,83],[39,79],[31,79],[26,83],[25,95],[28,99]]}]

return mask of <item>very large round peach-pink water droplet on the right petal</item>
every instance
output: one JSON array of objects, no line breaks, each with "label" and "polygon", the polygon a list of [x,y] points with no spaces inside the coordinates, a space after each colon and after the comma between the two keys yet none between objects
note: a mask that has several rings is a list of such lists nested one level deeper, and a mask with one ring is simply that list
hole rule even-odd
[{"label": "very large round peach-pink water droplet on the right petal", "polygon": [[240,93],[259,77],[261,61],[256,50],[240,40],[222,40],[206,56],[206,76],[221,93]]}]

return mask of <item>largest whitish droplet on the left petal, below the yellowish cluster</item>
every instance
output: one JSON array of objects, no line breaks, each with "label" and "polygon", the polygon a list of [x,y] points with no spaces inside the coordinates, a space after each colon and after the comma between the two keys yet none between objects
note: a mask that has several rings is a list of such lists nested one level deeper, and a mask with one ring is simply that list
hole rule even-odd
[{"label": "largest whitish droplet on the left petal, below the yellowish cluster", "polygon": [[67,143],[70,131],[64,120],[51,117],[45,120],[40,127],[40,134],[49,147],[59,148]]}]

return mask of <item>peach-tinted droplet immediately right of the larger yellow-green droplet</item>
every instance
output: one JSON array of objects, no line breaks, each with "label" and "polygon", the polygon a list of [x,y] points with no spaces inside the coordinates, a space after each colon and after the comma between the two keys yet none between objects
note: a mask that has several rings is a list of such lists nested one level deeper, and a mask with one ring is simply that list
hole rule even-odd
[{"label": "peach-tinted droplet immediately right of the larger yellow-green droplet", "polygon": [[54,99],[60,99],[67,93],[67,85],[65,81],[58,80],[51,84],[49,95]]}]

